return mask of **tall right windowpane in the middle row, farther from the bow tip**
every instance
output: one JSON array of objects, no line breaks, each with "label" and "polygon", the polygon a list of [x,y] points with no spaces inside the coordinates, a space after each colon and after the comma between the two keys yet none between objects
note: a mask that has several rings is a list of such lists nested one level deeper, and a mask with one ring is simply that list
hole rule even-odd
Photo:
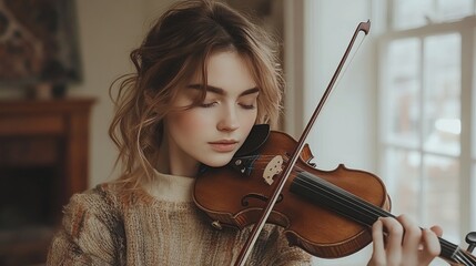
[{"label": "tall right windowpane in the middle row, farther from the bow tip", "polygon": [[424,149],[459,155],[460,37],[435,35],[424,42]]}]

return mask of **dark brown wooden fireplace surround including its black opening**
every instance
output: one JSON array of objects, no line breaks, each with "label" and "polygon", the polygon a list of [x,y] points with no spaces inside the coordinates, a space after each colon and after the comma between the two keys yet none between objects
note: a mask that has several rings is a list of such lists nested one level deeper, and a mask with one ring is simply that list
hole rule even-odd
[{"label": "dark brown wooden fireplace surround including its black opening", "polygon": [[[0,265],[41,263],[27,259],[36,253],[44,257],[51,235],[40,232],[34,245],[34,228],[54,228],[71,195],[88,188],[93,103],[0,100]],[[21,231],[29,232],[28,239],[14,236],[26,235]]]}]

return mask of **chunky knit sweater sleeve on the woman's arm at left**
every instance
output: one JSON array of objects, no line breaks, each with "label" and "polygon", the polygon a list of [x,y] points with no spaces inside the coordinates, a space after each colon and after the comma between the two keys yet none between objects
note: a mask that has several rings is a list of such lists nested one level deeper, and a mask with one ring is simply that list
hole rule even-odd
[{"label": "chunky knit sweater sleeve on the woman's arm at left", "polygon": [[114,205],[100,186],[71,197],[47,265],[124,264],[124,229]]}]

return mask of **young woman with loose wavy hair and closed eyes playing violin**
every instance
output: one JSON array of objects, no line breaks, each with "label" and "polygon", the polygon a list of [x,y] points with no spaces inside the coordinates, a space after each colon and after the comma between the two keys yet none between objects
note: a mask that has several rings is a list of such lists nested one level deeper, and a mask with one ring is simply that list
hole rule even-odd
[{"label": "young woman with loose wavy hair and closed eyes playing violin", "polygon": [[[276,123],[283,79],[273,41],[223,3],[183,1],[131,60],[136,72],[119,85],[110,127],[122,175],[71,198],[48,264],[231,265],[251,229],[211,227],[192,202],[193,177],[201,165],[229,163],[254,124]],[[433,232],[399,222],[375,223],[369,265],[426,265],[439,253]],[[264,227],[250,265],[310,264],[281,231]]]}]

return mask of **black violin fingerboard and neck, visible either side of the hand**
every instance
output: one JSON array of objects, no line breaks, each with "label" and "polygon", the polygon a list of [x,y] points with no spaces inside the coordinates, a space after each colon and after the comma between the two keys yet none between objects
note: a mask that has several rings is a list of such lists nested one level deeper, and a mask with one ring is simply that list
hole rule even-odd
[{"label": "black violin fingerboard and neck, visible either side of the hand", "polygon": [[[395,218],[395,215],[385,209],[307,172],[300,172],[290,190],[296,195],[368,227],[379,217]],[[476,258],[472,254],[442,237],[438,237],[438,241],[442,246],[439,257],[449,264],[476,266]]]}]

